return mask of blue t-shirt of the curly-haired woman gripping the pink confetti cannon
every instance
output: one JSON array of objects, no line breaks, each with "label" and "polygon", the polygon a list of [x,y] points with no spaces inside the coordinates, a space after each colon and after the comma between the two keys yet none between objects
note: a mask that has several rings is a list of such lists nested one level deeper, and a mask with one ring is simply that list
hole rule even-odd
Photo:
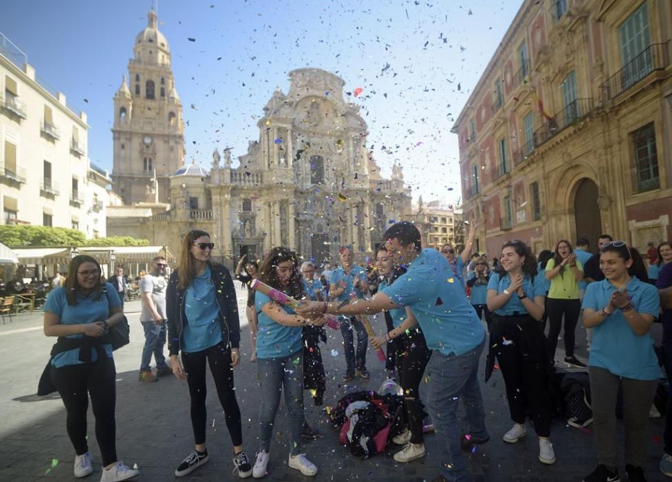
[{"label": "blue t-shirt of the curly-haired woman gripping the pink confetti cannon", "polygon": [[[257,358],[284,358],[301,350],[301,326],[285,326],[274,322],[268,315],[261,311],[265,304],[272,303],[270,297],[257,291],[254,306],[257,308]],[[287,306],[281,306],[290,315],[294,310]]]}]

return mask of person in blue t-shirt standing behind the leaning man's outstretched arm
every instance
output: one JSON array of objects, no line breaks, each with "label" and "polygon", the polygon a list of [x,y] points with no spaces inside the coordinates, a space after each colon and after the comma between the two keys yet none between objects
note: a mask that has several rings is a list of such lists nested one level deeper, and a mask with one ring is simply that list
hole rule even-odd
[{"label": "person in blue t-shirt standing behind the leaning man's outstretched arm", "polygon": [[[350,299],[361,300],[369,293],[369,278],[361,266],[352,264],[354,254],[351,246],[340,247],[341,266],[332,271],[329,277],[329,299],[347,302]],[[352,331],[357,332],[357,351]],[[367,331],[362,322],[356,317],[343,317],[340,322],[340,333],[343,334],[343,350],[347,369],[343,381],[350,381],[355,375],[365,380],[369,379],[367,370]]]}]

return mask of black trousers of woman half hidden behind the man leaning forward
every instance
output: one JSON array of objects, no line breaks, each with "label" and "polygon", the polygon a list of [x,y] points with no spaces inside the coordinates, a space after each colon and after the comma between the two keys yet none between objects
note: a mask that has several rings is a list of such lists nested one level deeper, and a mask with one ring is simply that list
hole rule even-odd
[{"label": "black trousers of woman half hidden behind the man leaning forward", "polygon": [[395,338],[395,362],[404,390],[404,406],[407,422],[411,430],[411,443],[422,443],[422,402],[420,401],[420,381],[424,368],[429,362],[431,351],[427,348],[420,327],[411,328],[408,335]]}]

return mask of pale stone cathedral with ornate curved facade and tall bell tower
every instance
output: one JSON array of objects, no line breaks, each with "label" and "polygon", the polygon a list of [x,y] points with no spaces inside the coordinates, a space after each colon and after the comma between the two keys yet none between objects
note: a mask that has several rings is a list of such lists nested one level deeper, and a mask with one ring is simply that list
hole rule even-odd
[{"label": "pale stone cathedral with ornate curved facade and tall bell tower", "polygon": [[[150,25],[155,25],[152,15]],[[174,92],[172,74],[164,74]],[[402,170],[395,165],[390,179],[380,176],[366,147],[367,125],[359,107],[343,97],[343,79],[314,68],[293,70],[289,78],[287,94],[276,90],[265,105],[257,124],[259,137],[250,141],[236,167],[230,151],[215,151],[208,168],[194,159],[175,166],[166,178],[175,165],[173,154],[184,156],[180,144],[173,151],[157,149],[152,166],[156,174],[139,176],[133,164],[139,156],[129,152],[129,162],[119,164],[116,177],[127,194],[126,205],[110,213],[108,234],[149,238],[177,253],[185,233],[205,229],[215,242],[213,255],[228,266],[241,255],[261,257],[275,246],[290,247],[317,264],[337,262],[343,244],[351,244],[362,258],[371,255],[389,224],[411,213],[411,192]],[[118,93],[117,111],[122,96],[129,101],[125,92]],[[181,141],[177,94],[165,102],[174,110],[153,114],[151,134],[138,136],[132,125],[129,132],[113,129],[115,149],[118,135],[133,138],[143,158],[144,136],[152,136],[149,145],[159,132],[166,133],[164,147]],[[177,124],[171,124],[169,112],[179,115]]]}]

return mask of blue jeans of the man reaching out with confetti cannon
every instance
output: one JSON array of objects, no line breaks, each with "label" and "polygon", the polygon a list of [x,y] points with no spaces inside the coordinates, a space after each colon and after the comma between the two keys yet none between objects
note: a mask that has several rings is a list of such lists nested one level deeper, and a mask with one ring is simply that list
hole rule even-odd
[{"label": "blue jeans of the man reaching out with confetti cannon", "polygon": [[468,424],[464,432],[476,439],[488,437],[478,381],[478,362],[484,345],[485,339],[473,350],[459,356],[446,356],[434,351],[427,365],[427,408],[439,442],[442,474],[449,482],[468,480],[455,414],[460,398]]}]

